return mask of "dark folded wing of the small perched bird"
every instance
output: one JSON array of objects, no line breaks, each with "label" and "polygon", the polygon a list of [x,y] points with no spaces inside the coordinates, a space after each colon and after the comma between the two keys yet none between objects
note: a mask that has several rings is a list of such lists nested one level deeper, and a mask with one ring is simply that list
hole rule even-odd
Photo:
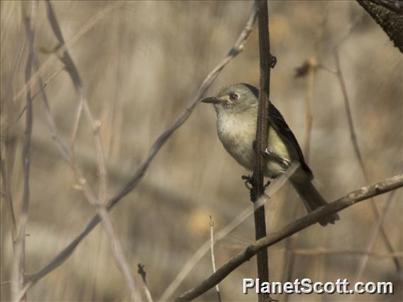
[{"label": "dark folded wing of the small perched bird", "polygon": [[292,130],[289,128],[287,123],[285,122],[284,118],[282,117],[280,111],[275,108],[275,106],[270,102],[269,105],[269,123],[272,125],[273,128],[282,135],[284,138],[289,140],[289,142],[294,145],[295,150],[297,151],[298,157],[299,157],[299,162],[301,163],[302,169],[304,169],[305,172],[308,173],[310,177],[314,177],[312,174],[311,169],[309,169],[308,165],[305,163],[304,160],[304,155],[302,154],[301,147],[299,147],[297,138],[295,138],[294,133],[292,133]]}]

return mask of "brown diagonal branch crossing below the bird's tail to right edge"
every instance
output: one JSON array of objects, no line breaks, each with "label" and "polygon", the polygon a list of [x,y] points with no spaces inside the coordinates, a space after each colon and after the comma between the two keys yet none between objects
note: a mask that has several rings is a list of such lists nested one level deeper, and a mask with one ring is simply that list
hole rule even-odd
[{"label": "brown diagonal branch crossing below the bird's tail to right edge", "polygon": [[333,201],[332,203],[329,203],[321,208],[317,208],[307,216],[289,223],[281,230],[267,235],[266,237],[263,237],[262,239],[248,245],[245,250],[231,258],[228,262],[226,262],[226,264],[223,264],[223,266],[220,267],[215,274],[211,274],[211,276],[204,279],[204,281],[202,281],[198,286],[195,286],[193,289],[182,293],[182,295],[175,298],[174,301],[191,301],[192,299],[197,298],[202,293],[205,293],[209,289],[213,288],[216,284],[228,276],[228,274],[233,272],[234,269],[248,261],[260,250],[270,247],[271,245],[274,245],[275,243],[280,242],[281,240],[301,230],[304,230],[311,225],[314,225],[321,220],[321,218],[327,217],[333,213],[343,210],[344,208],[348,208],[349,206],[353,206],[355,203],[359,203],[360,201],[368,200],[368,198],[371,198],[372,196],[384,194],[402,186],[403,174],[400,174],[390,177],[389,179],[385,179],[385,181],[380,181],[376,184],[364,186],[358,190],[351,191],[349,194],[338,198],[336,201]]}]

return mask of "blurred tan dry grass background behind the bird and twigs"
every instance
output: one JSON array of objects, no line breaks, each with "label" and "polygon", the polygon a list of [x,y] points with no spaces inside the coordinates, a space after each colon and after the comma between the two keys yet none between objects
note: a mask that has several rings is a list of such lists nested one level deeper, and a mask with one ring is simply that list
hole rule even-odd
[{"label": "blurred tan dry grass background behind the bird and twigs", "polygon": [[[19,1],[1,1],[1,156],[7,170],[16,213],[22,199],[21,150],[24,119],[16,121],[25,97],[16,98],[24,85],[27,43]],[[70,40],[107,1],[54,1],[66,40]],[[94,116],[101,121],[101,136],[114,194],[145,157],[155,138],[182,112],[205,75],[240,33],[248,18],[250,1],[127,1],[108,13],[69,47],[84,81],[84,94]],[[307,79],[295,79],[294,69],[314,53],[321,20],[329,13],[319,47],[319,62],[331,69],[331,50],[354,30],[341,47],[341,64],[347,84],[358,143],[371,182],[397,174],[402,163],[402,54],[355,1],[271,1],[270,38],[277,66],[272,72],[271,100],[282,111],[299,142],[306,131]],[[50,56],[55,37],[40,2],[35,20],[35,50],[41,63]],[[46,80],[62,67],[54,60]],[[223,84],[258,84],[258,35],[255,30],[245,51],[223,70],[209,90]],[[33,91],[39,87],[34,86]],[[70,140],[77,95],[66,72],[46,87],[57,127]],[[336,77],[319,70],[313,94],[313,132],[309,163],[316,184],[329,200],[365,185],[350,142],[343,96]],[[94,214],[74,189],[74,177],[50,137],[40,96],[33,104],[31,150],[31,208],[26,239],[27,272],[36,272],[65,247]],[[197,106],[182,128],[172,135],[151,164],[135,191],[111,212],[123,250],[136,281],[137,264],[145,264],[148,286],[155,298],[209,238],[209,215],[215,229],[252,206],[241,175],[246,174],[226,154],[216,135],[211,106]],[[82,122],[77,158],[85,177],[97,181],[96,156],[91,133]],[[4,188],[2,188],[4,190]],[[378,196],[382,210],[385,196]],[[402,191],[387,212],[385,230],[394,249],[403,250]],[[289,185],[273,198],[269,230],[292,220],[301,201]],[[314,225],[302,231],[296,248],[365,250],[375,225],[370,203],[341,212],[336,225]],[[216,265],[253,241],[253,218],[216,244]],[[375,252],[385,253],[377,238]],[[293,279],[315,281],[347,278],[353,282],[362,255],[297,255]],[[1,196],[1,301],[10,296],[12,245],[9,213]],[[284,242],[270,248],[271,279],[281,281],[285,264]],[[221,283],[224,301],[255,301],[241,293],[243,277],[254,278],[255,260],[243,264]],[[211,274],[206,255],[184,280],[177,293]],[[362,281],[394,281],[390,257],[370,257]],[[140,288],[140,287],[139,287]],[[356,301],[402,300],[402,285],[394,296],[358,296]],[[289,301],[345,301],[348,296],[290,296]],[[106,236],[97,227],[65,264],[28,292],[29,301],[122,301],[128,299],[123,276],[116,269]],[[216,299],[214,291],[199,298]],[[280,297],[282,300],[282,298]]]}]

